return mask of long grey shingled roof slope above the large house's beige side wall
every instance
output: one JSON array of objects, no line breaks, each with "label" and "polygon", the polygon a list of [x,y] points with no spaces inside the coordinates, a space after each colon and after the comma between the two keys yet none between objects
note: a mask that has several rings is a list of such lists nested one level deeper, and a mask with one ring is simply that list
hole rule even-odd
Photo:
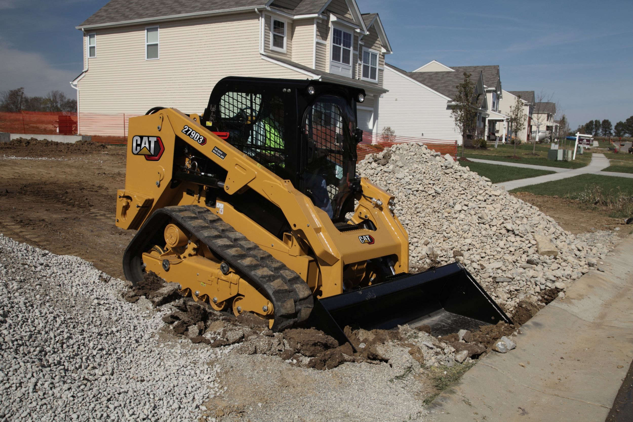
[{"label": "long grey shingled roof slope above the large house's beige side wall", "polygon": [[264,8],[266,0],[110,0],[77,28]]}]

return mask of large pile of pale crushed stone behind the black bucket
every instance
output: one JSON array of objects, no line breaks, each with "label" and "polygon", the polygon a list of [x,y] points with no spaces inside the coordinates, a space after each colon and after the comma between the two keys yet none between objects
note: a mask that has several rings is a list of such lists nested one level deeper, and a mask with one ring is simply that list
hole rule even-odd
[{"label": "large pile of pale crushed stone behind the black bucket", "polygon": [[458,261],[506,312],[523,300],[545,304],[546,290],[564,295],[620,240],[613,232],[572,235],[535,206],[422,144],[369,155],[356,172],[396,197],[394,213],[409,233],[411,271]]}]

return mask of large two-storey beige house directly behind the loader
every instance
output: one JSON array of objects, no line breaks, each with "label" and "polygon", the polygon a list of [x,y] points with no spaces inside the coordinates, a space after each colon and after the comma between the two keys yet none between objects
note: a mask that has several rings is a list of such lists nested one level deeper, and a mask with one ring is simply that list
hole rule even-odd
[{"label": "large two-storey beige house directly behind the loader", "polygon": [[365,89],[359,126],[373,130],[387,92],[389,40],[355,0],[111,0],[77,28],[80,113],[202,113],[223,77],[309,78]]}]

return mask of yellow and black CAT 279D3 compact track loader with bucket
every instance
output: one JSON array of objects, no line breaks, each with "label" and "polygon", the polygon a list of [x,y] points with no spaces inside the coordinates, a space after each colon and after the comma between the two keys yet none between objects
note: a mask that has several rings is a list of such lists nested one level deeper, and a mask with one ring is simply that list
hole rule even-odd
[{"label": "yellow and black CAT 279D3 compact track loader with bucket", "polygon": [[510,322],[459,263],[408,273],[394,197],[356,175],[365,92],[316,80],[224,78],[203,115],[130,118],[116,225],[123,257],[194,301],[250,312],[272,330]]}]

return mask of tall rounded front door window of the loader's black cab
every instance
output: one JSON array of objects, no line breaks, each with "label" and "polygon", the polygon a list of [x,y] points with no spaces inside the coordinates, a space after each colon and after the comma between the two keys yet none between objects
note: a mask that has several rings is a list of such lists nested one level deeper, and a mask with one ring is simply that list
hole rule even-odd
[{"label": "tall rounded front door window of the loader's black cab", "polygon": [[348,128],[341,108],[329,96],[321,97],[308,109],[305,125],[310,151],[304,171],[306,189],[315,197],[315,205],[332,217],[331,203],[336,202],[346,181],[343,148]]}]

